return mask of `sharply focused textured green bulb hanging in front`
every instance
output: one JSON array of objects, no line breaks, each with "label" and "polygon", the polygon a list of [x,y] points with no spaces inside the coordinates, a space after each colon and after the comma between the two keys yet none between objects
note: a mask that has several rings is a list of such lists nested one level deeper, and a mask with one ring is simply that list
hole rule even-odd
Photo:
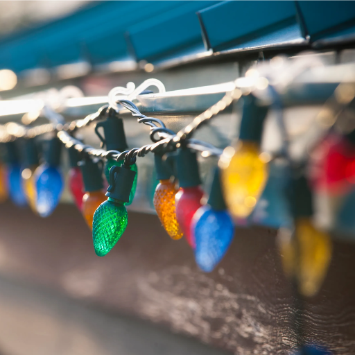
[{"label": "sharply focused textured green bulb hanging in front", "polygon": [[95,253],[104,257],[119,241],[128,224],[128,214],[121,202],[108,198],[94,214],[92,239]]}]

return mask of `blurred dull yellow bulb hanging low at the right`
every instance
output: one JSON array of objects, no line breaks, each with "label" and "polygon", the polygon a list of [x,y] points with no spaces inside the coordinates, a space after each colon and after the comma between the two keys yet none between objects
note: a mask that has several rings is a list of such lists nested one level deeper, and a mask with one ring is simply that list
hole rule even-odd
[{"label": "blurred dull yellow bulb hanging low at the right", "polygon": [[331,260],[331,239],[316,230],[310,218],[297,218],[295,238],[280,234],[279,248],[286,275],[295,277],[299,292],[311,297],[318,293]]}]

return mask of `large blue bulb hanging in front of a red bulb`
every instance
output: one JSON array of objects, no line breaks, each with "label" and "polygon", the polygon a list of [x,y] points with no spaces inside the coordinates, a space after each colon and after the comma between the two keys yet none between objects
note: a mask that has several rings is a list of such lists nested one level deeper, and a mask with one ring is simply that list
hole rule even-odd
[{"label": "large blue bulb hanging in front of a red bulb", "polygon": [[199,268],[211,272],[224,257],[234,236],[232,218],[227,211],[202,206],[193,216],[191,225],[195,236],[195,259]]}]

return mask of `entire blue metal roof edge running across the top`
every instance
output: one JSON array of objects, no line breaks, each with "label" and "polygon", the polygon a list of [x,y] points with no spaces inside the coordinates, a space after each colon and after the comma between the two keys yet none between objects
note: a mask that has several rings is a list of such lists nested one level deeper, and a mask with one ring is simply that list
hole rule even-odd
[{"label": "entire blue metal roof edge running across the top", "polygon": [[0,40],[0,69],[154,64],[355,40],[352,1],[103,1]]}]

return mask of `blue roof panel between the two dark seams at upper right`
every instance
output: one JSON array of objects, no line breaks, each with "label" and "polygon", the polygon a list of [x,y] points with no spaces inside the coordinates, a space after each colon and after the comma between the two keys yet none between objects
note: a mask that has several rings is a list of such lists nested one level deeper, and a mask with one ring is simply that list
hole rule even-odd
[{"label": "blue roof panel between the two dark seams at upper right", "polygon": [[294,1],[223,1],[198,16],[214,51],[304,42]]}]

